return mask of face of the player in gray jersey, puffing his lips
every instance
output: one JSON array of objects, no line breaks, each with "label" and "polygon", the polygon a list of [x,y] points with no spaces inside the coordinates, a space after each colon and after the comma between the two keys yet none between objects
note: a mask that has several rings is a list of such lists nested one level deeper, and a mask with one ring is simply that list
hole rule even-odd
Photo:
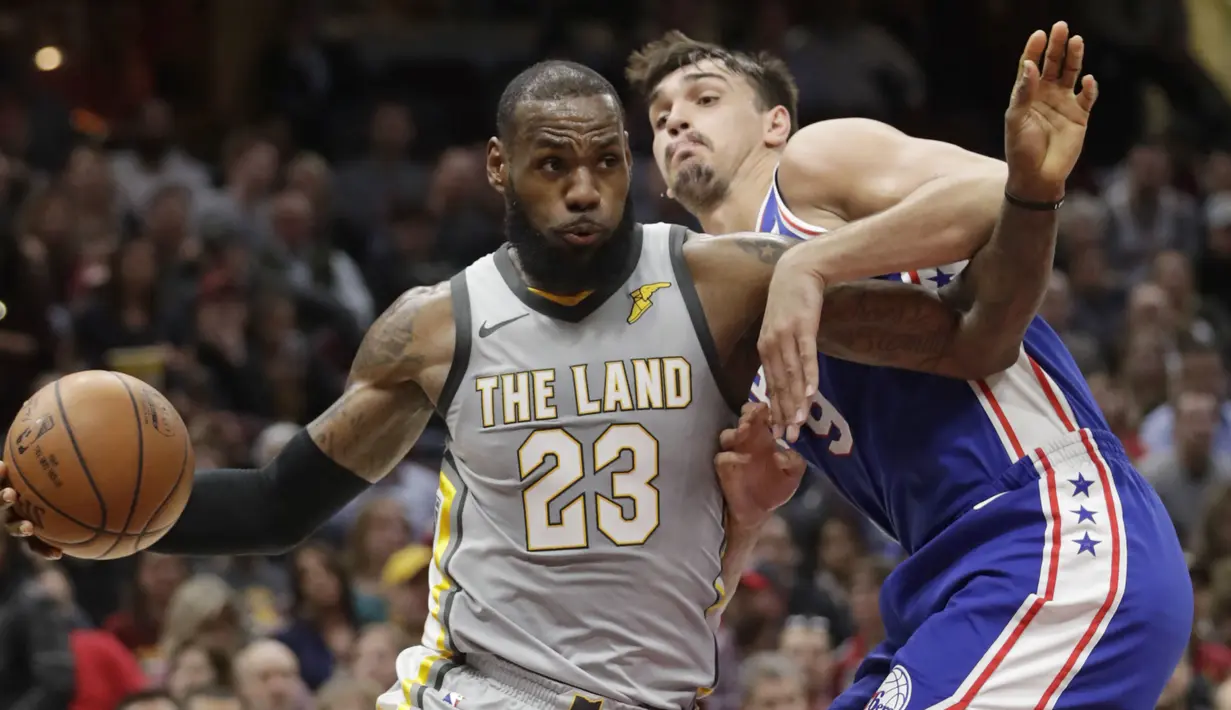
[{"label": "face of the player in gray jersey, puffing his lips", "polygon": [[547,246],[592,253],[620,225],[632,158],[620,108],[608,96],[531,101],[518,108],[512,145],[492,140],[489,180]]}]

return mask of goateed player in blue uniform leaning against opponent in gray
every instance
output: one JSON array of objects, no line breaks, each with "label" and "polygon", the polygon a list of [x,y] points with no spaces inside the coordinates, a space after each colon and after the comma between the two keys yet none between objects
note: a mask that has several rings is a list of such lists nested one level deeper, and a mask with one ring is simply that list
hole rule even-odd
[{"label": "goateed player in blue uniform leaning against opponent in gray", "polygon": [[[1032,37],[1025,57],[1044,46],[1038,111],[1007,116],[1009,193],[1027,126],[1083,123],[1093,97],[1088,78],[1073,95],[1081,38],[1057,23],[1050,39]],[[835,304],[821,316],[821,297],[836,282],[888,273],[864,283],[920,283],[948,303],[986,294],[995,245],[969,266],[920,267],[969,256],[992,223],[1003,166],[864,121],[792,135],[794,89],[780,63],[678,33],[635,54],[630,78],[648,92],[659,166],[707,230],[827,244],[826,257],[806,252],[805,265],[796,250],[778,265],[761,333],[766,377],[753,388],[756,400],[772,393],[773,417],[763,405],[745,412],[723,434],[719,471],[728,481],[767,476],[785,433],[910,552],[883,588],[888,637],[832,708],[1153,708],[1192,630],[1183,554],[1060,338],[1032,321],[1038,303],[1012,325],[968,327],[1008,356],[991,377],[811,354],[817,319],[832,324]],[[1014,121],[1025,122],[1016,144]],[[1071,139],[1049,135],[1051,146]],[[1040,209],[1062,198],[1064,181],[1030,196]],[[907,327],[913,306],[884,301],[868,313],[902,327],[852,341],[932,347]]]}]

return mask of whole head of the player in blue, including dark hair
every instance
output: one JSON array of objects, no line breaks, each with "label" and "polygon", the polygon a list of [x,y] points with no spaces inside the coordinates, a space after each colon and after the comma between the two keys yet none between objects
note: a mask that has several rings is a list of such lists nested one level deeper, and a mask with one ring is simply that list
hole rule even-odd
[{"label": "whole head of the player in blue, including dark hair", "polygon": [[625,74],[650,111],[659,171],[692,212],[721,203],[750,155],[780,150],[799,128],[795,80],[767,53],[667,32],[634,52]]}]

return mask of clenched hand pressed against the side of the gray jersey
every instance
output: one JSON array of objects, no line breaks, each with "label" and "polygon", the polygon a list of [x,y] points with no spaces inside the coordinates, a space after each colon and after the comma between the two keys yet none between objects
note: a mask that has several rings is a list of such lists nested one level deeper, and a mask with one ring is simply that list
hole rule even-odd
[{"label": "clenched hand pressed against the side of the gray jersey", "polygon": [[723,450],[714,457],[718,482],[731,524],[760,529],[799,489],[806,464],[779,448],[769,432],[769,407],[746,404],[740,423],[719,434]]}]

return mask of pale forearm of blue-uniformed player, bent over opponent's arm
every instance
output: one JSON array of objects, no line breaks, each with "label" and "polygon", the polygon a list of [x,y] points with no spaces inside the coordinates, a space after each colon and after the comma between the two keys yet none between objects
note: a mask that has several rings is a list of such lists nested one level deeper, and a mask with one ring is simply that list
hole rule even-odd
[{"label": "pale forearm of blue-uniformed player, bent over opponent's arm", "polygon": [[1004,172],[937,177],[896,205],[803,245],[828,284],[964,261],[991,236]]}]

